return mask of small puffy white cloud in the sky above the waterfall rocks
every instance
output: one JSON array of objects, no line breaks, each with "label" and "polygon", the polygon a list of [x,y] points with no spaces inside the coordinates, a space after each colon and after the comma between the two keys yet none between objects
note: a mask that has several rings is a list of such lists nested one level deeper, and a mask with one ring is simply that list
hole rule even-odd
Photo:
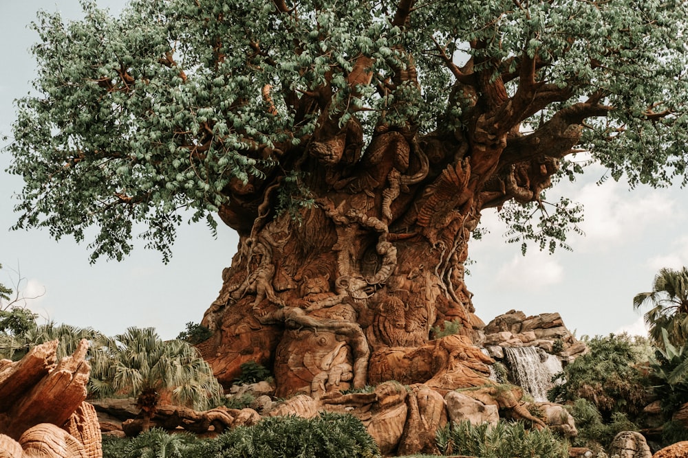
[{"label": "small puffy white cloud in the sky above the waterfall rocks", "polygon": [[497,271],[496,284],[519,290],[537,291],[563,280],[563,267],[547,252],[514,255]]}]

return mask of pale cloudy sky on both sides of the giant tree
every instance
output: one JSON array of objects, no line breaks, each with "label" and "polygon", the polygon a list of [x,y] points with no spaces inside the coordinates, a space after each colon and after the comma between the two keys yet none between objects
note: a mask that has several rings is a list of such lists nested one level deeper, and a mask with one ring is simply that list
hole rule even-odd
[{"label": "pale cloudy sky on both sides of the giant tree", "polygon": [[[98,5],[116,14],[125,1],[98,0]],[[80,14],[76,0],[0,2],[0,138],[11,139],[13,100],[31,91],[35,62],[30,47],[38,37],[26,26],[39,9],[58,10],[64,18]],[[0,141],[0,148],[6,144]],[[26,305],[40,315],[39,321],[90,326],[107,335],[129,326],[153,326],[164,339],[177,336],[185,323],[201,321],[222,286],[222,268],[231,264],[237,249],[231,229],[219,227],[213,238],[204,224],[184,223],[169,264],[142,243],[122,262],[89,264],[87,241],[56,241],[36,229],[10,231],[17,220],[12,196],[22,187],[21,179],[5,172],[11,159],[0,153],[0,284],[19,286],[24,297],[34,297]],[[688,265],[688,190],[629,190],[611,179],[596,185],[604,174],[593,166],[576,183],[560,183],[550,192],[585,205],[579,225],[585,236],[570,236],[573,251],[549,255],[531,247],[524,257],[518,244],[506,243],[506,228],[494,211],[484,212],[482,223],[490,232],[471,242],[473,264],[466,279],[483,321],[508,310],[559,312],[577,336],[645,334],[632,299],[652,288],[660,268]]]}]

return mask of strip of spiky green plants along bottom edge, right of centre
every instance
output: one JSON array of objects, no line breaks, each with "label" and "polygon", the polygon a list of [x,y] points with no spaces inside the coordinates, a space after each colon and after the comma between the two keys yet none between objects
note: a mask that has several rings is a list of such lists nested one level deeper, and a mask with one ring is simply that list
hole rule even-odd
[{"label": "strip of spiky green plants along bottom edge, right of centre", "polygon": [[444,455],[481,458],[568,456],[568,447],[552,431],[548,428],[527,431],[523,422],[450,423],[437,431],[436,441]]}]

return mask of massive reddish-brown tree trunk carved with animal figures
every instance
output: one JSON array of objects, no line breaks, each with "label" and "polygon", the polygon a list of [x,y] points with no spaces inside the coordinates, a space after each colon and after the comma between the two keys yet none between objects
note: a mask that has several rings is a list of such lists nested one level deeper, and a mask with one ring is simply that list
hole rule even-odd
[{"label": "massive reddish-brown tree trunk carved with animal figures", "polygon": [[[250,231],[239,230],[239,250],[202,321],[214,335],[200,348],[225,385],[248,361],[274,370],[277,396],[398,380],[402,366],[409,383],[448,369],[463,374],[449,385],[485,380],[484,360],[466,357],[468,339],[429,341],[444,321],[458,321],[469,337],[482,323],[464,262],[483,197],[508,198],[503,182],[492,192],[485,177],[495,167],[471,163],[455,139],[394,130],[377,132],[354,163],[361,147],[348,137],[356,128],[334,137],[341,144],[312,141],[306,150],[301,170],[310,170],[315,205],[275,217],[265,185]],[[228,209],[226,222],[237,227],[238,213]]]}]

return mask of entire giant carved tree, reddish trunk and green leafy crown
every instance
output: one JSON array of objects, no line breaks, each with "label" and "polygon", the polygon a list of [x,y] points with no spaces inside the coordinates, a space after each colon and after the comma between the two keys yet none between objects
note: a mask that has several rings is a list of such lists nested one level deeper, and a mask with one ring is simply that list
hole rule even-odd
[{"label": "entire giant carved tree, reddish trunk and green leafy crown", "polygon": [[574,154],[632,186],[688,179],[683,1],[83,8],[34,24],[15,229],[95,226],[95,260],[142,224],[167,260],[182,210],[219,216],[240,242],[200,349],[225,383],[253,360],[278,396],[318,394],[393,378],[389,358],[439,361],[420,356],[434,324],[479,322],[464,262],[481,211],[524,251],[566,247],[579,207],[544,191],[583,171]]}]

